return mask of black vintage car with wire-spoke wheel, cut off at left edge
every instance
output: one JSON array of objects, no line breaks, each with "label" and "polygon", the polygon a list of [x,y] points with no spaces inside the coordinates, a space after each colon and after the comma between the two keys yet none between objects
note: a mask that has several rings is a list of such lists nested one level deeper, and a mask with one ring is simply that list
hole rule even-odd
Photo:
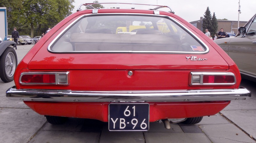
[{"label": "black vintage car with wire-spoke wheel, cut off at left edge", "polygon": [[14,41],[7,38],[3,41],[0,37],[0,78],[3,82],[13,81],[14,71],[17,67],[17,54],[12,48]]}]

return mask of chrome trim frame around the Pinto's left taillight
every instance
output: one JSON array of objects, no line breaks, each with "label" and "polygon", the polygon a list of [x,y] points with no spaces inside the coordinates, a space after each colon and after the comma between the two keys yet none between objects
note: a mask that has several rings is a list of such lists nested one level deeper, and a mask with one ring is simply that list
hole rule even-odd
[{"label": "chrome trim frame around the Pinto's left taillight", "polygon": [[[55,75],[55,83],[23,83],[21,82],[21,77],[23,75],[28,74],[54,74]],[[58,75],[65,74],[67,75],[66,83],[59,83],[58,82]],[[20,74],[19,83],[21,85],[69,85],[69,71],[63,71],[63,72],[22,72]]]}]

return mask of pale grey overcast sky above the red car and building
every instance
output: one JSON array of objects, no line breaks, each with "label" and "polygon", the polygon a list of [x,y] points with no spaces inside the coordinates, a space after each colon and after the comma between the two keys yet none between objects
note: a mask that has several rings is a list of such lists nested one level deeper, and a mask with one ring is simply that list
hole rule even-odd
[{"label": "pale grey overcast sky above the red car and building", "polygon": [[[92,3],[94,0],[75,0],[73,12],[82,3]],[[207,7],[211,14],[215,12],[217,19],[238,20],[238,2],[239,0],[98,0],[101,3],[137,3],[151,5],[165,5],[175,12],[176,15],[185,19],[188,22],[199,20],[203,17]],[[117,5],[103,5],[105,8],[118,7]],[[248,21],[256,13],[256,0],[240,0],[241,12],[239,15],[240,21]],[[119,6],[122,8],[122,5]],[[136,9],[143,8],[138,6],[128,6],[125,8],[135,7]]]}]

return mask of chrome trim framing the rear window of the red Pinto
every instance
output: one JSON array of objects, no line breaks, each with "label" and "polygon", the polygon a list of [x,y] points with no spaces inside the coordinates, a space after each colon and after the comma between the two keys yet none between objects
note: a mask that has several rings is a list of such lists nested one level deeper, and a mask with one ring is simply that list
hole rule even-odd
[{"label": "chrome trim framing the rear window of the red Pinto", "polygon": [[[203,52],[182,52],[182,51],[53,51],[51,50],[51,46],[53,45],[53,43],[63,34],[65,33],[73,24],[75,24],[77,21],[79,21],[81,18],[83,17],[87,17],[87,16],[91,16],[91,15],[140,15],[140,16],[154,16],[154,17],[165,17],[168,18],[170,20],[172,20],[173,22],[175,22],[176,24],[180,25],[183,29],[186,30],[186,32],[188,32],[188,34],[192,34],[195,39],[197,39],[199,41],[199,43],[201,43],[201,45],[203,45],[206,50]],[[167,15],[155,15],[155,14],[141,14],[141,13],[97,13],[97,14],[84,14],[80,17],[78,17],[75,21],[73,21],[71,24],[69,24],[65,29],[63,29],[54,39],[53,41],[48,45],[48,51],[52,52],[52,53],[154,53],[154,54],[158,54],[158,53],[180,53],[180,54],[204,54],[204,53],[208,53],[209,52],[209,48],[208,46],[199,38],[197,37],[193,32],[191,32],[188,28],[186,28],[183,24],[181,24],[180,22],[178,22],[177,20],[175,20],[174,18],[167,16]]]}]

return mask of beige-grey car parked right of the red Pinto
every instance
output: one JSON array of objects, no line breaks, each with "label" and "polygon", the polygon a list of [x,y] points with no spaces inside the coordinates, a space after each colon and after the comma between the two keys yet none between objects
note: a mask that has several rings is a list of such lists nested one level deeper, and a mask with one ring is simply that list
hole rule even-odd
[{"label": "beige-grey car parked right of the red Pinto", "polygon": [[256,14],[235,37],[214,40],[237,64],[243,77],[256,81]]}]

